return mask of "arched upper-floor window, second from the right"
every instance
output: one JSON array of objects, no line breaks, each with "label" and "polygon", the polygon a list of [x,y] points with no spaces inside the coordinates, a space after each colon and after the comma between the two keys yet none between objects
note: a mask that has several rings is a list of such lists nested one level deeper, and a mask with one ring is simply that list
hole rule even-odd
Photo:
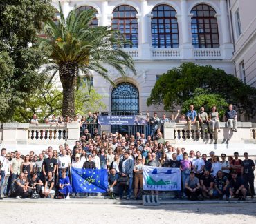
[{"label": "arched upper-floor window, second from the right", "polygon": [[179,30],[174,8],[159,5],[153,8],[152,14],[152,46],[154,48],[179,48]]}]

